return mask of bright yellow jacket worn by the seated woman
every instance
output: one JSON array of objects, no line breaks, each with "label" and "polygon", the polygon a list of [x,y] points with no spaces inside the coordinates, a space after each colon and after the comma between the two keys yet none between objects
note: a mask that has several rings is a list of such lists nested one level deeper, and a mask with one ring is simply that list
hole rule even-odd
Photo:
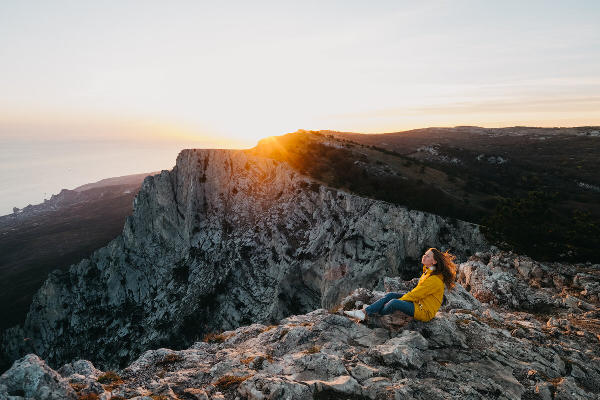
[{"label": "bright yellow jacket worn by the seated woman", "polygon": [[424,267],[419,284],[400,298],[405,302],[415,303],[415,319],[419,321],[433,320],[442,306],[444,278],[442,275],[431,275],[432,272]]}]

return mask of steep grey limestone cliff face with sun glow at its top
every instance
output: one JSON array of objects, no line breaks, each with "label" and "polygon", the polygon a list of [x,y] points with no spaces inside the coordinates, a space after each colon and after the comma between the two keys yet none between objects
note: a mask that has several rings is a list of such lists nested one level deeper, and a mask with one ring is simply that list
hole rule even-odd
[{"label": "steep grey limestone cliff face with sun glow at its top", "polygon": [[[54,272],[5,362],[85,354],[126,366],[210,330],[330,309],[358,287],[414,269],[427,246],[487,248],[476,227],[338,192],[243,151],[186,150],[149,177],[122,236]],[[29,339],[29,340],[25,340]]]}]

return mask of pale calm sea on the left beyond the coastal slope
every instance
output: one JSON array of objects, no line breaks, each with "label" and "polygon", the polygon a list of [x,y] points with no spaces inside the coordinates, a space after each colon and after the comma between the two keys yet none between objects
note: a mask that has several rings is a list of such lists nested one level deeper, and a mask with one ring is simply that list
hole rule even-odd
[{"label": "pale calm sea on the left beyond the coastal slope", "polygon": [[194,142],[0,140],[0,215],[40,204],[62,189],[106,178],[170,170]]}]

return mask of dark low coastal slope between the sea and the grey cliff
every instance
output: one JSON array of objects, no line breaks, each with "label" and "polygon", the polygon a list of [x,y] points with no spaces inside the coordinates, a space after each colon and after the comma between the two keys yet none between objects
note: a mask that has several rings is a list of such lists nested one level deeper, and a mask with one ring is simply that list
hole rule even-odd
[{"label": "dark low coastal slope between the sea and the grey cliff", "polygon": [[68,270],[122,233],[146,176],[63,190],[43,204],[0,217],[0,332],[25,322],[50,272]]}]

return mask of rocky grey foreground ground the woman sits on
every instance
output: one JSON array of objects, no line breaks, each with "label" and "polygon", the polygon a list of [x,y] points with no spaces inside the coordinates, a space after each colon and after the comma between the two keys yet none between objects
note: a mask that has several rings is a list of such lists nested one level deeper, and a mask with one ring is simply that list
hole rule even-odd
[{"label": "rocky grey foreground ground the woman sits on", "polygon": [[148,351],[118,372],[85,360],[53,371],[29,354],[0,377],[0,398],[598,399],[599,269],[478,253],[428,323],[343,315],[416,285],[385,278],[331,311]]}]

